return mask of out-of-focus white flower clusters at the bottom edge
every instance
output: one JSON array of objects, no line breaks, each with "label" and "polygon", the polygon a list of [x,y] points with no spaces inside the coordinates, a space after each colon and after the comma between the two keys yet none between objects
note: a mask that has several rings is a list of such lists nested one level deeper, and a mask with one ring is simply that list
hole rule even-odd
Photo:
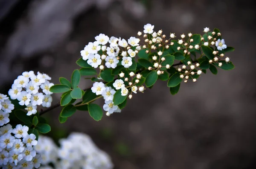
[{"label": "out-of-focus white flower clusters at the bottom edge", "polygon": [[42,157],[40,169],[112,169],[110,157],[98,149],[91,138],[82,133],[71,133],[59,141],[58,148],[49,137],[39,136],[36,152]]}]

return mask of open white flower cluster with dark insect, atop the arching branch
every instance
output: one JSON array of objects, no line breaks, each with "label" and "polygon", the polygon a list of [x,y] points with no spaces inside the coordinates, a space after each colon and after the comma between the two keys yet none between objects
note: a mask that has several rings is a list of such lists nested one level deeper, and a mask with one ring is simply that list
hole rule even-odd
[{"label": "open white flower cluster with dark insect, atop the arching branch", "polygon": [[[106,66],[115,69],[120,57],[122,57],[122,66],[129,68],[132,65],[132,57],[135,57],[141,49],[138,44],[140,39],[136,37],[130,37],[127,42],[120,37],[109,38],[105,34],[99,34],[95,37],[95,40],[95,42],[86,45],[84,50],[81,51],[83,60],[87,60],[87,63],[93,68],[99,66],[100,69],[104,69]],[[107,46],[108,43],[109,46]],[[136,50],[132,50],[131,47],[136,47]]]}]

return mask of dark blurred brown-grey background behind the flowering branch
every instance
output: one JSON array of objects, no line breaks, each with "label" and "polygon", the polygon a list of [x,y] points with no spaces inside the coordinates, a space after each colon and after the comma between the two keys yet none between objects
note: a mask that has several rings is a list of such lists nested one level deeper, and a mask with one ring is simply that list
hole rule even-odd
[{"label": "dark blurred brown-grey background behind the flowering branch", "polygon": [[100,33],[127,39],[146,23],[166,35],[217,27],[236,49],[228,55],[236,69],[208,71],[175,96],[158,81],[99,122],[76,112],[60,124],[60,108],[44,117],[55,140],[90,135],[115,169],[255,169],[255,20],[253,0],[0,0],[0,91],[29,70],[53,83],[69,79],[80,51]]}]

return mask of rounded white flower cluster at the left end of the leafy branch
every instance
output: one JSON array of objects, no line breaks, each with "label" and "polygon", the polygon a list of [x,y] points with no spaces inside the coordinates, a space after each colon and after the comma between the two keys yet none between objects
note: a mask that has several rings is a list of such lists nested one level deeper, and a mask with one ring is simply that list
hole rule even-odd
[{"label": "rounded white flower cluster at the left end of the leafy branch", "polygon": [[[23,72],[12,84],[12,89],[8,94],[12,100],[17,99],[21,106],[25,105],[27,115],[35,115],[37,106],[49,107],[52,103],[52,92],[49,91],[53,83],[50,83],[51,77],[47,74],[33,71]],[[40,88],[42,92],[40,92]]]}]

